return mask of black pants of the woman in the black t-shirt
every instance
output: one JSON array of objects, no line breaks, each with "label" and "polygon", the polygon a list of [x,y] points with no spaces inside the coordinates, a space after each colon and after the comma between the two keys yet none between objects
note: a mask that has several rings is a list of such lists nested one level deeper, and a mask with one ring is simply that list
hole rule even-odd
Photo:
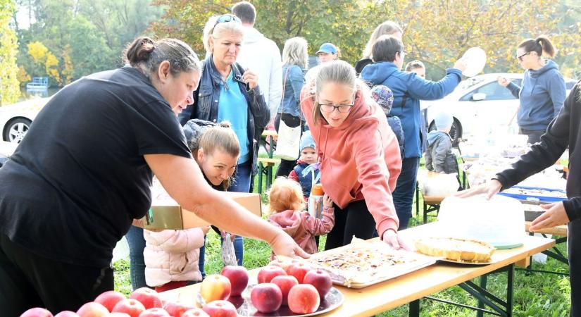
[{"label": "black pants of the woman in the black t-shirt", "polygon": [[107,290],[113,290],[111,267],[46,259],[0,234],[0,316],[18,317],[32,307],[77,311]]}]

